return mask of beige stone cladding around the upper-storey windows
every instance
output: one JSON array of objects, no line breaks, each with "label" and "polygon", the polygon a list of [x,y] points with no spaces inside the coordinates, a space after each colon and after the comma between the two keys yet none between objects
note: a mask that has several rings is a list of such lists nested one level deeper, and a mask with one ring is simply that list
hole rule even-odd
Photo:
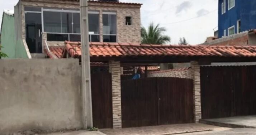
[{"label": "beige stone cladding around the upper-storey windows", "polygon": [[[89,10],[100,12],[100,42],[103,42],[103,11],[117,12],[117,42],[141,43],[141,5],[133,4],[108,4],[88,3]],[[37,6],[47,8],[79,9],[79,1],[58,0],[22,0],[22,33],[25,38],[25,14],[24,6]],[[125,16],[132,17],[132,25],[125,25]]]}]

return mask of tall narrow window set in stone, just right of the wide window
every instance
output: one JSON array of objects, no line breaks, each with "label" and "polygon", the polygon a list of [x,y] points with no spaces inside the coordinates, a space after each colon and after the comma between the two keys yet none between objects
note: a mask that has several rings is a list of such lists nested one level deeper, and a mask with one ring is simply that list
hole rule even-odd
[{"label": "tall narrow window set in stone, just right of the wide window", "polygon": [[116,13],[103,13],[103,42],[117,42]]}]

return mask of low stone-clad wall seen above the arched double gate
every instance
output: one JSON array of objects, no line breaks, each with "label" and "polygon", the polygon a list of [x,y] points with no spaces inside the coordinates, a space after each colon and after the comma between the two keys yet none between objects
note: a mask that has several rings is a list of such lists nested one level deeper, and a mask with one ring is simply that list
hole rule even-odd
[{"label": "low stone-clad wall seen above the arched double gate", "polygon": [[154,71],[154,72],[148,73],[148,77],[176,77],[176,78],[188,78],[188,79],[193,78],[190,68]]}]

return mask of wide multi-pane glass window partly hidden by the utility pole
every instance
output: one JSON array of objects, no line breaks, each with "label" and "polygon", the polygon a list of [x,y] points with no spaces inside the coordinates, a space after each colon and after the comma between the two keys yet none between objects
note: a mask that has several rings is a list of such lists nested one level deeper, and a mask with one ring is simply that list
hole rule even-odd
[{"label": "wide multi-pane glass window partly hidden by the utility pole", "polygon": [[[76,10],[43,9],[44,32],[49,34],[63,35],[53,38],[49,35],[48,40],[67,39],[80,41],[80,13]],[[89,11],[89,40],[99,42],[99,12]]]}]

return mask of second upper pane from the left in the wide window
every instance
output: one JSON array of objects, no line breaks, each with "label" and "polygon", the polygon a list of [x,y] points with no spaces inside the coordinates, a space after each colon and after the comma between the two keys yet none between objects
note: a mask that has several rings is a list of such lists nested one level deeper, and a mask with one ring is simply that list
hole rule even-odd
[{"label": "second upper pane from the left in the wide window", "polygon": [[73,33],[72,13],[61,13],[62,33]]}]

